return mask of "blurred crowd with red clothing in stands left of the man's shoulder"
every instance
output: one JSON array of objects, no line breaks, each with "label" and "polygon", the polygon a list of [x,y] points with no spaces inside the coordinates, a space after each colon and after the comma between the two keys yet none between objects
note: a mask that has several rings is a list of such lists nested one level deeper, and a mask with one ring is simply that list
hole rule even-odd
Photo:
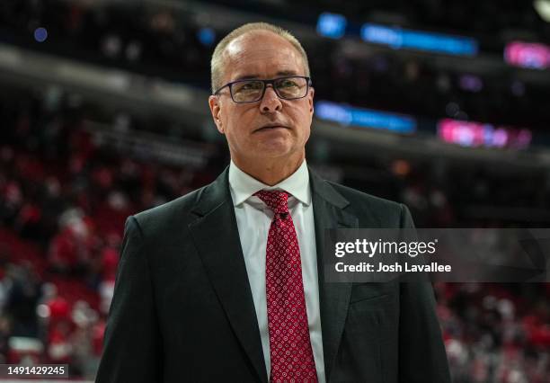
[{"label": "blurred crowd with red clothing in stands left of the man's shoulder", "polygon": [[104,150],[77,100],[14,92],[0,102],[0,361],[93,378],[125,219],[214,174]]}]

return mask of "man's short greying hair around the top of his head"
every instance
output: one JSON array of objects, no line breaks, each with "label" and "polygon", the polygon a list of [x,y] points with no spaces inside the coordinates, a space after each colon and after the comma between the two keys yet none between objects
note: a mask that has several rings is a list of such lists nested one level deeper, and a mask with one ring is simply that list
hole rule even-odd
[{"label": "man's short greying hair around the top of his head", "polygon": [[271,31],[276,35],[287,40],[294,48],[297,49],[298,53],[302,57],[304,63],[304,70],[306,76],[309,75],[309,63],[307,61],[306,50],[302,47],[302,44],[294,37],[289,31],[284,30],[276,25],[267,23],[267,22],[249,22],[244,24],[233,31],[230,31],[226,37],[217,43],[216,49],[212,54],[212,59],[210,61],[210,81],[212,86],[212,93],[216,92],[217,89],[222,86],[221,82],[223,81],[223,56],[227,46],[236,38],[243,36],[245,33],[251,31]]}]

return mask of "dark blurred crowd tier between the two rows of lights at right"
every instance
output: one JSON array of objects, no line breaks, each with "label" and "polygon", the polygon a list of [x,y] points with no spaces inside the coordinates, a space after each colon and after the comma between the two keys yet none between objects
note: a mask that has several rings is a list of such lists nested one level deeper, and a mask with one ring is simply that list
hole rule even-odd
[{"label": "dark blurred crowd tier between the two rows of lights at right", "polygon": [[326,45],[309,49],[319,99],[409,114],[430,133],[444,118],[540,130],[550,120],[542,107],[548,87],[522,81],[514,71],[482,76],[466,65],[444,69],[374,50],[352,57]]}]

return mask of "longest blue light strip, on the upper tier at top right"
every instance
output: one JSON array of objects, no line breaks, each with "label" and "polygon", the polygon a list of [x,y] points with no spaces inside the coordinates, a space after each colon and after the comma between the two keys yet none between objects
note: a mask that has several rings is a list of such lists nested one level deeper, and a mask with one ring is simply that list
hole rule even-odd
[{"label": "longest blue light strip, on the upper tier at top right", "polygon": [[371,23],[365,23],[361,27],[361,39],[394,49],[419,49],[457,56],[475,56],[479,50],[475,39],[424,31],[407,31]]}]

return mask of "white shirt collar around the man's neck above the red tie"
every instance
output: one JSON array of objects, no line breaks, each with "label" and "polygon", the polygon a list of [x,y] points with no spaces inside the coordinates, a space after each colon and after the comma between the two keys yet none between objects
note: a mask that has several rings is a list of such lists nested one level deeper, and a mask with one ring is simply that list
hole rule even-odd
[{"label": "white shirt collar around the man's neck above the red tie", "polygon": [[306,206],[311,203],[309,172],[307,171],[306,159],[302,161],[302,165],[297,168],[296,172],[273,186],[266,185],[251,175],[244,173],[231,160],[229,164],[229,189],[231,190],[234,206],[248,200],[256,191],[264,189],[268,191],[276,189],[288,191],[297,200],[306,204]]}]

